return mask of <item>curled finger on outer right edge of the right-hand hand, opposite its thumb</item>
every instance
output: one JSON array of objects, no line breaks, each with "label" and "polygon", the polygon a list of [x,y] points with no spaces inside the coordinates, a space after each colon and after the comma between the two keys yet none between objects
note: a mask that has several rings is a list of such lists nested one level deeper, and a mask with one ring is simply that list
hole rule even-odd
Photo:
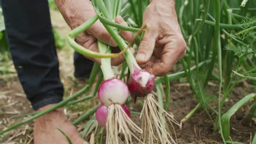
[{"label": "curled finger on outer right edge of the right-hand hand, opposite its thumb", "polygon": [[163,76],[167,74],[172,67],[184,56],[186,44],[183,38],[176,38],[170,41],[162,51],[160,62],[156,62],[153,66],[153,74],[156,76]]}]

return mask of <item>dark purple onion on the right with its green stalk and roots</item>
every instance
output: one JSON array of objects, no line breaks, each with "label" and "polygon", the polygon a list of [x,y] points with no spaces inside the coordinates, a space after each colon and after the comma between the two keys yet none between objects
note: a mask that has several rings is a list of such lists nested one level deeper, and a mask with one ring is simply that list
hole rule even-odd
[{"label": "dark purple onion on the right with its green stalk and roots", "polygon": [[[121,1],[115,1],[121,2]],[[142,129],[146,133],[144,133],[141,137],[144,143],[176,143],[170,134],[168,128],[166,128],[167,122],[175,123],[171,113],[168,113],[162,108],[158,101],[155,98],[155,95],[152,94],[155,82],[155,76],[147,70],[143,70],[139,67],[136,62],[133,53],[127,49],[131,44],[126,44],[125,40],[120,37],[116,29],[112,26],[104,23],[103,20],[106,21],[108,19],[109,23],[113,21],[113,18],[109,15],[109,11],[107,10],[108,3],[104,3],[102,0],[100,1],[92,1],[92,4],[95,7],[96,13],[103,23],[104,27],[107,29],[108,33],[112,36],[115,42],[118,44],[120,50],[125,51],[124,57],[126,59],[126,63],[130,70],[130,79],[127,82],[127,86],[129,88],[132,99],[136,101],[137,97],[144,97],[144,105],[141,112],[140,118],[142,119]],[[105,19],[102,19],[104,17]],[[115,26],[114,26],[115,27]],[[147,25],[143,25],[142,28],[135,34],[132,42],[136,39],[136,37],[144,31]],[[128,29],[127,29],[128,30]],[[159,112],[160,111],[160,112]],[[164,123],[162,123],[162,118],[164,118]]]}]

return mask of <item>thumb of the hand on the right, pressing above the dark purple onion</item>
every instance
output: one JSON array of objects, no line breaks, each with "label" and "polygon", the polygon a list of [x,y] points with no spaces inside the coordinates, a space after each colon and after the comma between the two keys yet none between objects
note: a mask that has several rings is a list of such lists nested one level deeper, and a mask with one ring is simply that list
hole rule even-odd
[{"label": "thumb of the hand on the right, pressing above the dark purple onion", "polygon": [[155,47],[155,38],[146,31],[138,48],[136,61],[138,64],[147,63],[152,57]]}]

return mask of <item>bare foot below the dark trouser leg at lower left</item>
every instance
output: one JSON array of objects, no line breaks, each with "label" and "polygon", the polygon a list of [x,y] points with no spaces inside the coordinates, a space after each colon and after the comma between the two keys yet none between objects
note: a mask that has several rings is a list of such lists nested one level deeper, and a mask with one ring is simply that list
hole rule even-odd
[{"label": "bare foot below the dark trouser leg at lower left", "polygon": [[[43,111],[53,106],[46,105],[39,109]],[[61,129],[75,144],[88,144],[88,142],[81,139],[77,128],[68,121],[64,115],[63,109],[57,109],[52,112],[37,118],[34,122],[33,137],[34,144],[68,144],[65,136],[61,134],[57,128]]]}]

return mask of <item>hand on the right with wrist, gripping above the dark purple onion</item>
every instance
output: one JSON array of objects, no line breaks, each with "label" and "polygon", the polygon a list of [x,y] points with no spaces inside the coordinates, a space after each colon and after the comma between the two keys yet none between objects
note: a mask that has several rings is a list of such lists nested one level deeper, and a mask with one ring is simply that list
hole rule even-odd
[{"label": "hand on the right with wrist, gripping above the dark purple onion", "polygon": [[150,1],[143,14],[143,24],[148,27],[139,45],[136,60],[142,68],[152,71],[154,75],[165,75],[186,52],[174,0]]}]

